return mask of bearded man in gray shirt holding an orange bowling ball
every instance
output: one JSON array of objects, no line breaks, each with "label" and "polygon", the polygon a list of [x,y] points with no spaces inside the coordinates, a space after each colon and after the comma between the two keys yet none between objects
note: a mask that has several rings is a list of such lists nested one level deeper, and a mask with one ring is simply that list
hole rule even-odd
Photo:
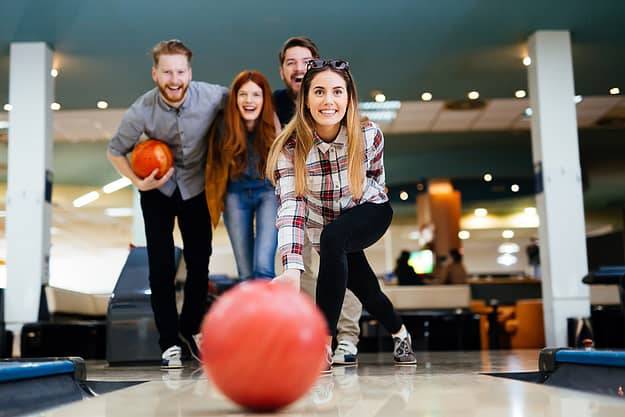
[{"label": "bearded man in gray shirt holding an orange bowling ball", "polygon": [[[151,304],[159,332],[161,368],[181,368],[181,342],[199,359],[200,324],[206,313],[211,220],[204,196],[206,134],[228,89],[191,81],[191,50],[179,40],[152,49],[156,88],[139,97],[124,115],[107,156],[115,169],[139,190],[147,242]],[[145,135],[166,142],[174,156],[168,172],[155,169],[139,178],[127,155]],[[187,268],[180,320],[174,277],[174,222],[184,245]]]}]

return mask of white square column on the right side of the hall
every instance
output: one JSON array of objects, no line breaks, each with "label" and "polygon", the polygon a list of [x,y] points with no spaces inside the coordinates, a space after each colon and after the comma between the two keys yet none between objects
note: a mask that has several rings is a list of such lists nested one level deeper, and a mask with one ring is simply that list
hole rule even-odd
[{"label": "white square column on the right side of the hall", "polygon": [[529,38],[532,155],[548,346],[566,346],[566,319],[590,315],[582,175],[568,31]]}]

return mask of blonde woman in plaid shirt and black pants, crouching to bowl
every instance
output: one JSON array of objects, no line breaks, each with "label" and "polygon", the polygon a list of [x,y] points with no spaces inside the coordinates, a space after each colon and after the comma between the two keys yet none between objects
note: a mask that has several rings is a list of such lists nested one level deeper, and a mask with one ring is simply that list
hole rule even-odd
[{"label": "blonde woman in plaid shirt and black pants, crouching to bowl", "polygon": [[395,362],[416,363],[410,334],[364,253],[393,217],[383,152],[380,129],[361,123],[349,64],[309,61],[295,117],[269,152],[267,177],[272,176],[280,203],[276,224],[284,271],[274,283],[299,290],[305,234],[319,253],[316,302],[329,328],[327,370],[346,288],[392,334]]}]

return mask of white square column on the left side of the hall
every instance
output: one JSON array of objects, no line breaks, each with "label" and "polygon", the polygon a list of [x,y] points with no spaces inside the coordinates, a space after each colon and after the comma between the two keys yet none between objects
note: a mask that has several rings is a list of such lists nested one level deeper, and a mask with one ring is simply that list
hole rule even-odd
[{"label": "white square column on the left side of the hall", "polygon": [[52,196],[52,50],[12,43],[7,178],[7,327],[36,321],[48,282]]}]

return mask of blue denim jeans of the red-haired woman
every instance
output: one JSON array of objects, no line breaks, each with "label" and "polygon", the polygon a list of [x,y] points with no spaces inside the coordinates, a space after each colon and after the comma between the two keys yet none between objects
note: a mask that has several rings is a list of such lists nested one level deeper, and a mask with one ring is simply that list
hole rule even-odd
[{"label": "blue denim jeans of the red-haired woman", "polygon": [[278,197],[273,188],[246,188],[226,193],[224,222],[237,262],[239,279],[276,276],[277,212]]}]

